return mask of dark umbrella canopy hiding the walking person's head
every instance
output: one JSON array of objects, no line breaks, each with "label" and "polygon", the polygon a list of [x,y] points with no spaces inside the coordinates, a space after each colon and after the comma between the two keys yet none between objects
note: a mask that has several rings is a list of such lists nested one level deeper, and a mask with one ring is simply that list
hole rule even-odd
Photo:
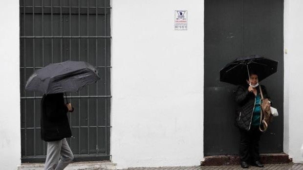
[{"label": "dark umbrella canopy hiding the walking person's head", "polygon": [[36,70],[27,80],[25,90],[43,94],[77,92],[99,80],[98,71],[84,61],[49,64]]}]

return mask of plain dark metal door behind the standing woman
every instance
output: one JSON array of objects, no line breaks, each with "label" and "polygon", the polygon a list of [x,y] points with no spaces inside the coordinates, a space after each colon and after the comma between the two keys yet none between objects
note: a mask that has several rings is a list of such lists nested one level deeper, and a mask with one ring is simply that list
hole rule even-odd
[{"label": "plain dark metal door behind the standing woman", "polygon": [[283,0],[205,0],[204,155],[238,154],[236,86],[219,70],[236,57],[259,54],[279,61],[264,84],[279,116],[261,136],[260,152],[283,151]]}]

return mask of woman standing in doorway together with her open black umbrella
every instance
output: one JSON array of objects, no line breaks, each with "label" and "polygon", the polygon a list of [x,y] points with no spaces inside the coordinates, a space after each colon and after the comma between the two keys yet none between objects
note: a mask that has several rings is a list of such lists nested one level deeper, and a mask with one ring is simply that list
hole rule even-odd
[{"label": "woman standing in doorway together with her open black umbrella", "polygon": [[[261,93],[269,98],[259,81],[277,72],[278,62],[259,55],[239,57],[220,70],[220,81],[239,85],[236,91],[236,126],[240,132],[239,157],[242,168],[260,163],[259,140]],[[245,82],[246,80],[246,82]],[[270,103],[269,103],[270,105]]]}]

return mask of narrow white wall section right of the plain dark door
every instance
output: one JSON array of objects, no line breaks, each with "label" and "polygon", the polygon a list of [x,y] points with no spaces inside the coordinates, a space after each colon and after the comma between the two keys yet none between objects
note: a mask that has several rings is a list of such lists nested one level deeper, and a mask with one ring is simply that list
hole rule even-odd
[{"label": "narrow white wall section right of the plain dark door", "polygon": [[284,152],[303,162],[303,1],[284,0]]}]

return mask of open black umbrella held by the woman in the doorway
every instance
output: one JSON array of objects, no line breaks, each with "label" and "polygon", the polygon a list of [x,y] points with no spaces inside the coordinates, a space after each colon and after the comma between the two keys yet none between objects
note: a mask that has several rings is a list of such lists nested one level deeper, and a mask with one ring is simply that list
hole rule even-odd
[{"label": "open black umbrella held by the woman in the doorway", "polygon": [[259,81],[277,72],[278,61],[259,55],[239,57],[220,70],[220,81],[234,85],[244,84],[249,73],[258,75]]}]

